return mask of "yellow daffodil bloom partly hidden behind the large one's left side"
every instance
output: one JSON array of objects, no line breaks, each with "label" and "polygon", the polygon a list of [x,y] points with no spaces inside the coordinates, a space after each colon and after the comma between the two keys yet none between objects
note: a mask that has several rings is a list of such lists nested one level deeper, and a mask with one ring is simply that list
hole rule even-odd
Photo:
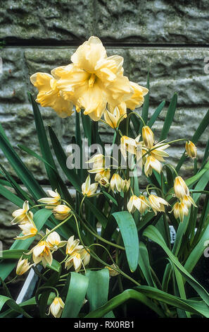
[{"label": "yellow daffodil bloom partly hidden behind the large one's left side", "polygon": [[72,114],[73,104],[61,96],[53,76],[48,73],[34,73],[30,81],[39,90],[36,101],[42,107],[53,108],[59,117],[68,117]]}]

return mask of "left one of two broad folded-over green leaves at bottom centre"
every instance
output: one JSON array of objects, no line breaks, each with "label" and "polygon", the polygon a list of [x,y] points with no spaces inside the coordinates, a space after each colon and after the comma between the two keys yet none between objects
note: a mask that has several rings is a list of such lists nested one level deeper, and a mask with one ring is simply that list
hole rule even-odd
[{"label": "left one of two broad folded-over green leaves at bottom centre", "polygon": [[89,279],[80,273],[70,273],[70,285],[65,300],[62,318],[77,318],[87,294]]}]

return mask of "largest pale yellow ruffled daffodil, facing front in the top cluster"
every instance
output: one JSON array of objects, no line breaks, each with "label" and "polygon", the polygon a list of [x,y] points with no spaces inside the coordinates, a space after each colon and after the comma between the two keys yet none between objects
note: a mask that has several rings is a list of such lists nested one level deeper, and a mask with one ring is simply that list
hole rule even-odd
[{"label": "largest pale yellow ruffled daffodil, facing front in the top cluster", "polygon": [[65,99],[83,108],[94,121],[101,119],[107,103],[117,106],[133,95],[128,78],[123,76],[123,58],[107,57],[98,37],[92,36],[78,47],[71,61],[51,73]]}]

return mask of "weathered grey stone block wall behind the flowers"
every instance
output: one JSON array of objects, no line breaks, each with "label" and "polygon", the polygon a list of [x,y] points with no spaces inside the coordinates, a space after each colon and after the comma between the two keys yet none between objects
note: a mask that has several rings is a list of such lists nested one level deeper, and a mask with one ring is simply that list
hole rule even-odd
[{"label": "weathered grey stone block wall behind the flowers", "polygon": [[[35,95],[30,75],[50,72],[70,63],[78,45],[91,35],[101,38],[108,55],[125,59],[125,74],[131,81],[146,85],[150,69],[150,114],[166,100],[166,106],[153,127],[156,138],[173,93],[178,107],[169,138],[191,138],[209,108],[209,74],[204,59],[209,57],[209,9],[206,0],[0,0],[0,121],[11,143],[34,176],[47,185],[43,165],[20,152],[23,144],[38,151],[32,107],[27,91]],[[60,119],[51,109],[41,109],[45,126],[51,125],[65,148],[75,133],[75,117]],[[101,136],[110,141],[110,132],[101,125]],[[198,143],[198,162],[208,140],[208,131]],[[184,148],[170,148],[177,162]],[[1,163],[13,174],[4,155]],[[186,170],[191,168],[188,160]],[[0,201],[0,240],[7,239],[10,205]],[[8,221],[8,222],[7,222]],[[7,234],[7,235],[6,235]]]}]

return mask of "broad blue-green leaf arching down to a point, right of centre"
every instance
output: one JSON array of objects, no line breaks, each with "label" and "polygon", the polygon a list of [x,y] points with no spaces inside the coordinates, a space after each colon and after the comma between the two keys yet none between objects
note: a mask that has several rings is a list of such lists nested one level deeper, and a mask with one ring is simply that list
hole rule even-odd
[{"label": "broad blue-green leaf arching down to a point, right of centre", "polygon": [[129,268],[134,272],[139,262],[139,237],[134,218],[127,211],[113,213],[113,217],[120,228]]}]

